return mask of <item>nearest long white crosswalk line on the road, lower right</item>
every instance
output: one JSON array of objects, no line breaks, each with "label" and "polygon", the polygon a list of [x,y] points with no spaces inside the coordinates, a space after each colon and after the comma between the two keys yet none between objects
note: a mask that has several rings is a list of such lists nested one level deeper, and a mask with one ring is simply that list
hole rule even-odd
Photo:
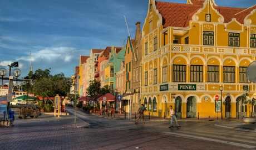
[{"label": "nearest long white crosswalk line on the road, lower right", "polygon": [[171,133],[170,132],[161,132],[161,133],[165,133],[165,134],[168,134],[168,135],[176,135],[176,136],[180,136],[180,137],[189,137],[189,138],[202,139],[202,140],[205,140],[205,141],[218,142],[218,143],[223,143],[223,144],[230,144],[230,145],[233,145],[233,146],[244,147],[244,148],[256,148],[256,146],[250,146],[250,145],[247,145],[247,144],[235,143],[235,142],[229,142],[229,141],[221,141],[219,139],[214,139],[214,138],[185,135],[183,133],[175,133],[175,132],[171,132]]}]

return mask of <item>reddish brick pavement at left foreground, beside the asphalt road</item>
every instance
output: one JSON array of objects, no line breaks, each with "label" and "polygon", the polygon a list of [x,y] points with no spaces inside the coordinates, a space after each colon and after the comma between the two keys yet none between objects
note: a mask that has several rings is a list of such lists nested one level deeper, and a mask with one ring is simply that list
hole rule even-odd
[{"label": "reddish brick pavement at left foreground, beside the asphalt road", "polygon": [[[244,149],[229,144],[150,132],[144,130],[144,125],[137,126],[131,121],[105,119],[107,125],[109,122],[122,122],[119,125],[126,126],[124,128],[117,128],[116,125],[110,128],[103,125],[78,128],[86,123],[77,118],[74,125],[73,121],[72,115],[17,119],[14,127],[0,127],[0,149]],[[168,128],[166,131],[171,132]]]}]

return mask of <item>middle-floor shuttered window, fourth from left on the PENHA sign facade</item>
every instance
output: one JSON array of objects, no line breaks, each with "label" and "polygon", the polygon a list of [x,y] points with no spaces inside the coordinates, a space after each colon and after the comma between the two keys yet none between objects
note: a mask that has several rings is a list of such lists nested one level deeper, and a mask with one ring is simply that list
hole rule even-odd
[{"label": "middle-floor shuttered window, fourth from left on the PENHA sign facade", "polygon": [[235,66],[223,66],[223,82],[235,82]]}]

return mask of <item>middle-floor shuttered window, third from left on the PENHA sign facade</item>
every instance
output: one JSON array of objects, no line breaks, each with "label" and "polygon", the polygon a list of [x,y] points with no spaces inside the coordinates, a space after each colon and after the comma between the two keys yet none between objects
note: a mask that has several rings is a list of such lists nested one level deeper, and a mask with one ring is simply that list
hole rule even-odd
[{"label": "middle-floor shuttered window, third from left on the PENHA sign facade", "polygon": [[207,66],[207,82],[219,82],[219,66]]}]

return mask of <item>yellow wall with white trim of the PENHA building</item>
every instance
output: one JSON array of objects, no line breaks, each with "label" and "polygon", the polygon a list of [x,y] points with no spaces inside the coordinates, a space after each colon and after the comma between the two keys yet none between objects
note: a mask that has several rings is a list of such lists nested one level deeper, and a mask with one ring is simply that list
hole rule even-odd
[{"label": "yellow wall with white trim of the PENHA building", "polygon": [[[231,117],[237,116],[236,101],[244,92],[243,85],[250,87],[249,95],[255,91],[255,85],[252,83],[239,82],[239,66],[248,66],[255,60],[255,48],[249,47],[249,33],[256,33],[256,27],[246,27],[233,19],[230,23],[221,23],[222,16],[213,7],[210,6],[211,22],[205,22],[205,13],[208,13],[208,3],[195,13],[198,20],[191,20],[188,28],[175,27],[163,28],[163,25],[157,27],[157,22],[161,20],[161,16],[156,12],[154,1],[152,11],[148,11],[145,18],[145,24],[142,28],[142,102],[146,99],[151,100],[156,97],[157,112],[150,112],[153,116],[164,117],[165,106],[174,107],[175,98],[181,97],[182,100],[182,117],[187,117],[187,101],[193,96],[196,99],[196,116],[199,117],[217,117],[215,112],[215,95],[220,97],[219,87],[223,86],[222,100],[227,97],[231,99]],[[252,20],[252,24],[256,25],[256,13],[250,14],[248,19]],[[149,22],[152,20],[152,31],[149,30]],[[249,30],[249,31],[248,31]],[[214,32],[214,45],[203,45],[203,32]],[[164,34],[164,32],[166,34]],[[229,46],[229,33],[240,33],[240,46]],[[189,36],[189,44],[185,44],[185,37]],[[157,37],[157,50],[153,51],[150,45],[152,39]],[[178,39],[178,44],[173,44],[173,40]],[[164,45],[165,41],[165,45]],[[148,43],[147,55],[144,53],[145,43]],[[186,81],[173,82],[173,65],[186,65]],[[190,66],[203,65],[203,82],[191,82]],[[208,82],[208,65],[219,66],[219,82]],[[168,82],[162,83],[162,68],[168,66]],[[223,66],[235,66],[235,82],[223,82]],[[157,69],[157,84],[153,84],[154,69]],[[145,72],[148,72],[148,85],[145,86]],[[196,90],[179,90],[179,84],[196,85]],[[168,85],[166,91],[160,91],[160,86]],[[166,104],[164,102],[166,97]],[[205,99],[205,97],[208,97]],[[220,99],[220,98],[219,98]],[[223,117],[225,117],[225,103],[222,104]],[[247,108],[249,110],[249,108]],[[146,114],[149,111],[145,112]],[[249,111],[247,112],[249,113]],[[168,115],[166,114],[168,117]],[[170,117],[170,116],[169,116]],[[218,113],[218,117],[221,115]]]}]

